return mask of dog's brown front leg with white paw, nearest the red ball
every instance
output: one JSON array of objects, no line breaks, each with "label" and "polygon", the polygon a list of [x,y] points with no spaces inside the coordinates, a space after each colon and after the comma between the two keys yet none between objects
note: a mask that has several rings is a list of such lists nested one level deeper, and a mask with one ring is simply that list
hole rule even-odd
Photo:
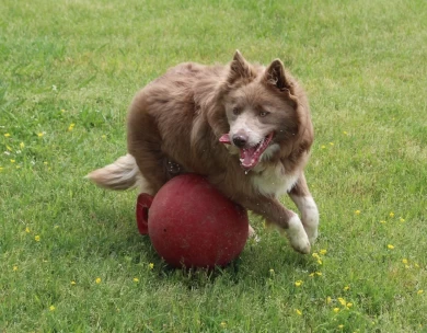
[{"label": "dog's brown front leg with white paw, nearest the red ball", "polygon": [[284,207],[276,198],[263,197],[254,200],[238,200],[245,208],[263,216],[275,225],[280,233],[286,233],[291,246],[300,253],[310,253],[310,241],[297,214]]}]

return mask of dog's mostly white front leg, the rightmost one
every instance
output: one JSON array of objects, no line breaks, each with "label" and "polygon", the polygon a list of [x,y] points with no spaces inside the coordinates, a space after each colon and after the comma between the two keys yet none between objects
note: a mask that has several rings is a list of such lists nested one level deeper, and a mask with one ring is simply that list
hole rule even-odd
[{"label": "dog's mostly white front leg, the rightmost one", "polygon": [[310,243],[313,244],[318,238],[319,210],[309,191],[303,173],[298,179],[297,184],[289,192],[289,196],[300,210],[302,225],[304,226]]}]

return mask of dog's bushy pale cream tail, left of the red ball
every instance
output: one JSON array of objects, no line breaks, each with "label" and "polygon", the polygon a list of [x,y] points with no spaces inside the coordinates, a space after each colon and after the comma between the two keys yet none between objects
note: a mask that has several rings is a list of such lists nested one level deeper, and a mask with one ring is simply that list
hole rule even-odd
[{"label": "dog's bushy pale cream tail, left of the red ball", "polygon": [[141,185],[142,181],[137,162],[129,153],[120,157],[113,164],[92,171],[85,177],[109,190],[134,188]]}]

